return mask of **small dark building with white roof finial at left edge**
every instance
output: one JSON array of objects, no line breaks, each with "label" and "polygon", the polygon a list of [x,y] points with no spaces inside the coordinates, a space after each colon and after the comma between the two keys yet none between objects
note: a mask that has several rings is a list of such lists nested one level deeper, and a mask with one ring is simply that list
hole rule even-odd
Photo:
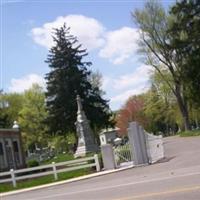
[{"label": "small dark building with white roof finial at left edge", "polygon": [[25,167],[21,133],[18,125],[12,129],[0,129],[0,171]]}]

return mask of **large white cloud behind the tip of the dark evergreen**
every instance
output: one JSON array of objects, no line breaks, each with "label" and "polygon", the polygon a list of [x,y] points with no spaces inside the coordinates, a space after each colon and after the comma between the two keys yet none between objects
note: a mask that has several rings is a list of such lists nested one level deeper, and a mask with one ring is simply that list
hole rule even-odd
[{"label": "large white cloud behind the tip of the dark evergreen", "polygon": [[84,48],[92,50],[104,44],[104,27],[94,18],[83,15],[60,16],[53,22],[45,23],[42,27],[32,29],[34,41],[46,48],[53,45],[53,28],[60,28],[64,23],[70,27],[70,33],[76,36]]}]

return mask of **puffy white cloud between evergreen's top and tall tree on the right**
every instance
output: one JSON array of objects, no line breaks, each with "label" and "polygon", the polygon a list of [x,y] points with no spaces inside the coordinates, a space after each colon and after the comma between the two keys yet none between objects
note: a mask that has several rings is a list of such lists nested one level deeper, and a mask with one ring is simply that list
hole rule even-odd
[{"label": "puffy white cloud between evergreen's top and tall tree on the right", "polygon": [[100,50],[99,56],[108,58],[113,64],[122,64],[134,55],[137,50],[139,33],[137,29],[122,27],[110,31],[106,35],[106,45]]}]

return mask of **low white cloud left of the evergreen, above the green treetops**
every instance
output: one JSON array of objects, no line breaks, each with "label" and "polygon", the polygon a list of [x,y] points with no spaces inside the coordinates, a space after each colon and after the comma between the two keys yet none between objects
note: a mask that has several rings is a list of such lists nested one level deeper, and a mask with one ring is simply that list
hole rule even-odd
[{"label": "low white cloud left of the evergreen, above the green treetops", "polygon": [[37,74],[29,74],[20,79],[12,79],[11,86],[9,87],[10,92],[21,93],[24,90],[31,88],[33,83],[39,84],[41,87],[45,87],[44,79]]}]

